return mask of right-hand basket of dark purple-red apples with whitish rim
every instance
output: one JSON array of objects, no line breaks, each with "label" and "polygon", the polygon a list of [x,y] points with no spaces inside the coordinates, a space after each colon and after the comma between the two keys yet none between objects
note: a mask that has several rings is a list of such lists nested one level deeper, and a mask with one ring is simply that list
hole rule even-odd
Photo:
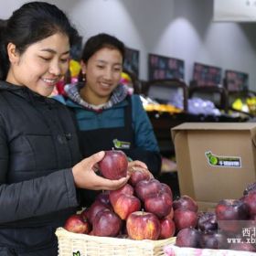
[{"label": "right-hand basket of dark purple-red apples with whitish rim", "polygon": [[173,208],[176,243],[165,246],[166,256],[256,255],[256,183],[238,199],[220,200],[214,211],[197,212],[188,197],[175,200]]}]

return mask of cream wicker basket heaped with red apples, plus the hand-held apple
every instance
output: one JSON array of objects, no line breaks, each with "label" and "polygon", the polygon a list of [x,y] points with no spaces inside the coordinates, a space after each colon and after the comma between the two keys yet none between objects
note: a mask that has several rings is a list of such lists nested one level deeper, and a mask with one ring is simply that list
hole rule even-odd
[{"label": "cream wicker basket heaped with red apples, plus the hand-held apple", "polygon": [[[127,156],[119,150],[106,151],[99,163],[101,175],[109,179],[127,176],[127,167]],[[59,255],[165,255],[165,245],[176,240],[173,218],[171,188],[147,172],[133,171],[125,186],[102,191],[56,230]]]}]

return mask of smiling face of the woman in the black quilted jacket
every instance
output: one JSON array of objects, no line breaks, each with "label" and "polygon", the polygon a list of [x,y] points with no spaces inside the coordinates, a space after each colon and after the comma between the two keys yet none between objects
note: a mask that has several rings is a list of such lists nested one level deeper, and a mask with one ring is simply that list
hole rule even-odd
[{"label": "smiling face of the woman in the black quilted jacket", "polygon": [[23,54],[16,46],[7,46],[10,69],[6,81],[26,86],[42,96],[48,96],[55,84],[69,69],[69,37],[54,34],[30,45]]}]

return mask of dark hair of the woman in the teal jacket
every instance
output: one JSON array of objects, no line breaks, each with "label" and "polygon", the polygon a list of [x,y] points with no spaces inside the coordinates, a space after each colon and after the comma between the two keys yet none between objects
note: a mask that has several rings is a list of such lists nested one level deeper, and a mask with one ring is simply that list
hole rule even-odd
[{"label": "dark hair of the woman in the teal jacket", "polygon": [[87,62],[91,56],[101,48],[115,48],[120,51],[123,60],[125,55],[125,47],[122,41],[117,37],[113,37],[108,34],[98,34],[96,36],[90,37],[84,45],[81,59]]}]

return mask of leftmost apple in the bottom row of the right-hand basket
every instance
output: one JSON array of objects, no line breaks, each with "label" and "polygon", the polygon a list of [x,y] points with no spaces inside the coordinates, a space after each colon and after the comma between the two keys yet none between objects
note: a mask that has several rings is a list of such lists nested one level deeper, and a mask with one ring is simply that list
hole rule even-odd
[{"label": "leftmost apple in the bottom row of the right-hand basket", "polygon": [[176,246],[199,248],[201,233],[194,228],[186,228],[178,231],[176,235]]}]

